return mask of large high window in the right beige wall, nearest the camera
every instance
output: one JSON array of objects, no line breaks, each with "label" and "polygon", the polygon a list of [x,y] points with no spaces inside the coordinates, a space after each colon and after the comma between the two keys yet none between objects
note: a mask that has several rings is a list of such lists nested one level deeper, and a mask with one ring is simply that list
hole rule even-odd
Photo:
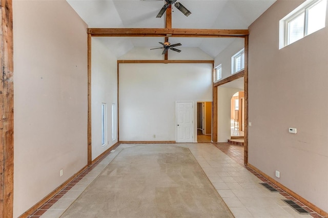
[{"label": "large high window in the right beige wall, nearest the camera", "polygon": [[327,0],[308,0],[280,20],[279,49],[325,27]]}]

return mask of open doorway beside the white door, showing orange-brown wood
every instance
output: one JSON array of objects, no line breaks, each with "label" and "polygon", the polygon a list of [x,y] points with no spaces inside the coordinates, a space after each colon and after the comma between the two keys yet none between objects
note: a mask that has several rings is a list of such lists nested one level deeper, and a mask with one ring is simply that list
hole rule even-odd
[{"label": "open doorway beside the white door, showing orange-brown wood", "polygon": [[197,142],[212,141],[212,102],[197,102]]}]

